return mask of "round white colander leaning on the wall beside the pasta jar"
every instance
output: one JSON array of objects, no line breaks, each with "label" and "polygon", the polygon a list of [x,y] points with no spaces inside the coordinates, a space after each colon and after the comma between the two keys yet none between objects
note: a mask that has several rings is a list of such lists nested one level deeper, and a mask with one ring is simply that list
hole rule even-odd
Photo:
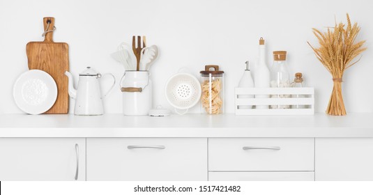
[{"label": "round white colander leaning on the wall beside the pasta jar", "polygon": [[[185,114],[201,98],[201,84],[193,75],[178,73],[167,81],[166,98],[177,114]],[[177,109],[185,111],[178,112]]]}]

